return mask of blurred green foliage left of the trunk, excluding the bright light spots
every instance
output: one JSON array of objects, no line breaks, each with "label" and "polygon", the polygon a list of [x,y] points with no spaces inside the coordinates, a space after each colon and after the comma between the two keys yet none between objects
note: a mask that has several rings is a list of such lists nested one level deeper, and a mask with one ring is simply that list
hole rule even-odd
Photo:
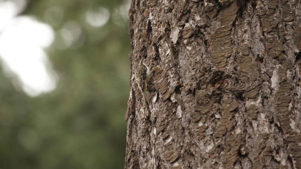
[{"label": "blurred green foliage left of the trunk, excluding the bright light spots", "polygon": [[[130,46],[128,21],[114,16],[114,11],[125,3],[28,1],[22,15],[44,23],[48,8],[63,11],[59,23],[48,23],[56,38],[47,53],[59,82],[54,91],[31,98],[1,72],[0,168],[124,167]],[[98,7],[107,8],[110,18],[105,25],[92,27],[85,14]],[[80,25],[82,44],[58,49],[64,43],[61,28],[69,21]]]}]

